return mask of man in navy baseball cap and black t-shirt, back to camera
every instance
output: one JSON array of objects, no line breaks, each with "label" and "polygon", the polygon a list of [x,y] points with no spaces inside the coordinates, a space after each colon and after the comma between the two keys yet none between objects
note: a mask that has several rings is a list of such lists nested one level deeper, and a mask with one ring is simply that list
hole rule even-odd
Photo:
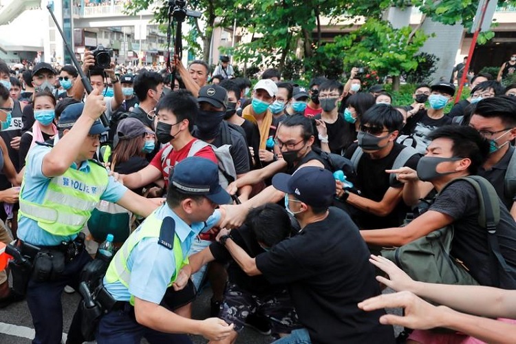
[{"label": "man in navy baseball cap and black t-shirt, back to camera", "polygon": [[299,221],[299,234],[255,258],[230,237],[225,242],[248,275],[287,283],[305,328],[277,343],[394,343],[393,329],[378,322],[385,311],[367,313],[357,307],[363,297],[380,290],[358,228],[346,213],[328,208],[335,196],[332,173],[305,166],[292,176],[275,175],[272,184],[287,193],[285,206]]}]

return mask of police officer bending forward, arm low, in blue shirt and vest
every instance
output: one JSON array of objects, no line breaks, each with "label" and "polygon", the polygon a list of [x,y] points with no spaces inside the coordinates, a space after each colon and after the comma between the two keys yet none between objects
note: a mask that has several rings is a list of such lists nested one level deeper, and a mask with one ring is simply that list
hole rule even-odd
[{"label": "police officer bending forward, arm low, in blue shirt and vest", "polygon": [[140,343],[142,337],[150,343],[191,343],[184,333],[219,341],[231,333],[233,325],[222,319],[187,319],[160,305],[167,288],[188,279],[179,271],[188,264],[193,240],[220,222],[215,207],[228,202],[215,162],[191,157],[175,165],[166,204],[145,219],[109,264],[103,283],[116,303],[100,319],[97,343]]}]

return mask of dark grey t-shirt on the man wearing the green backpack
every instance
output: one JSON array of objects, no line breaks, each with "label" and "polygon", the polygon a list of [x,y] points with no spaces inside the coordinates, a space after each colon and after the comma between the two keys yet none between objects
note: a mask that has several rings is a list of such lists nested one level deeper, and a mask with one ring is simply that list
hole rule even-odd
[{"label": "dark grey t-shirt on the man wearing the green backpack", "polygon": [[[478,224],[479,202],[473,186],[465,180],[454,182],[436,197],[429,211],[438,211],[453,218],[455,235],[451,255],[464,261],[471,276],[480,284],[493,286],[491,268],[494,267],[491,264],[487,230]],[[508,266],[516,268],[516,222],[504,206],[500,206],[496,235]]]}]

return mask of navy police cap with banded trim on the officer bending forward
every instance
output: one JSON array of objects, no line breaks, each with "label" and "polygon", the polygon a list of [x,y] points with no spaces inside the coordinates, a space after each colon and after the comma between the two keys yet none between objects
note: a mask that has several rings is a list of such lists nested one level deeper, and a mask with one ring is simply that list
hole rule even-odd
[{"label": "navy police cap with banded trim on the officer bending forward", "polygon": [[219,166],[215,162],[192,156],[174,166],[170,185],[180,193],[206,196],[216,204],[228,204],[231,196],[219,184]]}]

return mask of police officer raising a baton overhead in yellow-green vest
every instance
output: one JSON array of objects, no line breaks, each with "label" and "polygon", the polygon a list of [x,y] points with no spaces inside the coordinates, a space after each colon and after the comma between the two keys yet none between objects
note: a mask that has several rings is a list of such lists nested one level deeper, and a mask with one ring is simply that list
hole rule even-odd
[{"label": "police officer raising a baton overhead in yellow-green vest", "polygon": [[[95,205],[116,202],[143,216],[158,206],[116,182],[92,160],[100,133],[107,130],[98,120],[105,109],[98,91],[85,104],[69,105],[59,118],[57,144],[38,144],[28,153],[17,246],[34,265],[26,295],[36,330],[32,343],[61,343],[61,294],[66,285],[77,288],[80,271],[91,260],[77,238]],[[82,343],[77,315],[67,343]]]}]

